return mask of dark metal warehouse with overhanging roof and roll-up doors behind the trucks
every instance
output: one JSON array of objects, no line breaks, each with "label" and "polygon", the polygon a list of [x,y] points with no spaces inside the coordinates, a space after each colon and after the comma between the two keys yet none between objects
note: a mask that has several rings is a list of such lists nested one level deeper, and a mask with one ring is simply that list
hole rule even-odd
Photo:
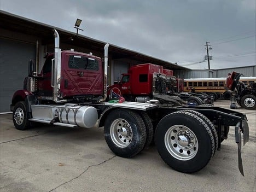
[{"label": "dark metal warehouse with overhanging roof and roll-up doors behind the trucks", "polygon": [[[42,68],[44,55],[54,51],[54,26],[42,24],[30,19],[0,10],[0,113],[10,111],[11,97],[14,92],[23,89],[27,76],[28,61],[38,61]],[[83,53],[104,56],[106,42],[56,28],[60,34],[60,48],[74,49]],[[136,51],[127,50],[110,44],[109,47],[109,84],[126,73],[127,69],[139,63],[154,63],[173,71],[190,70],[171,62],[156,59]]]}]

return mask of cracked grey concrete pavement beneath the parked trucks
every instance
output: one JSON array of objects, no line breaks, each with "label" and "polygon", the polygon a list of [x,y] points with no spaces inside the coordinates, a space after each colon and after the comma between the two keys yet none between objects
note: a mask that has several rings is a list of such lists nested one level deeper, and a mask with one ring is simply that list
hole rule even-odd
[{"label": "cracked grey concrete pavement beneath the parked trucks", "polygon": [[[229,101],[215,106],[229,108]],[[234,127],[210,163],[185,174],[172,170],[150,146],[134,158],[115,156],[103,128],[41,125],[16,130],[11,114],[0,115],[0,191],[241,191],[256,181],[255,110],[246,113],[250,139],[242,147],[245,177],[238,171]]]}]

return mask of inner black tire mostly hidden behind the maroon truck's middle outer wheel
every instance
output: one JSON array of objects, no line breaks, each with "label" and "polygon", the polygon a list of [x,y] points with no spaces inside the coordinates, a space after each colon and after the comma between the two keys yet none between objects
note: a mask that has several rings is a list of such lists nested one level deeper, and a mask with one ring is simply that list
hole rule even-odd
[{"label": "inner black tire mostly hidden behind the maroon truck's middle outer wheel", "polygon": [[146,126],[146,132],[147,132],[147,138],[144,148],[148,148],[150,144],[153,142],[154,138],[154,128],[151,119],[149,118],[148,114],[146,112],[139,113],[144,121],[144,124]]}]

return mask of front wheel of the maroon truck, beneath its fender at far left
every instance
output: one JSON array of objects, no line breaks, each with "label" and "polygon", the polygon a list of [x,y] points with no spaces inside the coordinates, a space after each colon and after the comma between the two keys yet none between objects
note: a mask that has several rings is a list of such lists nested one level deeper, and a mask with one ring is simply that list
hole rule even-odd
[{"label": "front wheel of the maroon truck, beneath its fender at far left", "polygon": [[28,121],[28,113],[24,101],[17,102],[13,109],[13,124],[18,130],[26,130],[31,127]]}]

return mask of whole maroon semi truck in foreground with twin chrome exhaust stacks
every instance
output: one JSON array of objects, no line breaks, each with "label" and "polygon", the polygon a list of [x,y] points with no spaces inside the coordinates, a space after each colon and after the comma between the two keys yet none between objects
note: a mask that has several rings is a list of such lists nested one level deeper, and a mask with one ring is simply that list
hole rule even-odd
[{"label": "whole maroon semi truck in foreground with twin chrome exhaust stacks", "polygon": [[[243,174],[241,133],[244,143],[249,139],[245,114],[219,107],[187,106],[168,99],[151,103],[107,102],[109,44],[104,47],[102,65],[102,59],[92,54],[61,51],[56,30],[54,36],[55,53],[46,56],[40,73],[31,61],[24,89],[13,95],[10,108],[16,129],[28,129],[34,122],[66,127],[104,126],[109,148],[124,158],[148,147],[154,136],[161,158],[174,170],[191,173],[208,164],[232,126],[240,149],[238,168]],[[143,87],[138,85],[137,89]]]}]

